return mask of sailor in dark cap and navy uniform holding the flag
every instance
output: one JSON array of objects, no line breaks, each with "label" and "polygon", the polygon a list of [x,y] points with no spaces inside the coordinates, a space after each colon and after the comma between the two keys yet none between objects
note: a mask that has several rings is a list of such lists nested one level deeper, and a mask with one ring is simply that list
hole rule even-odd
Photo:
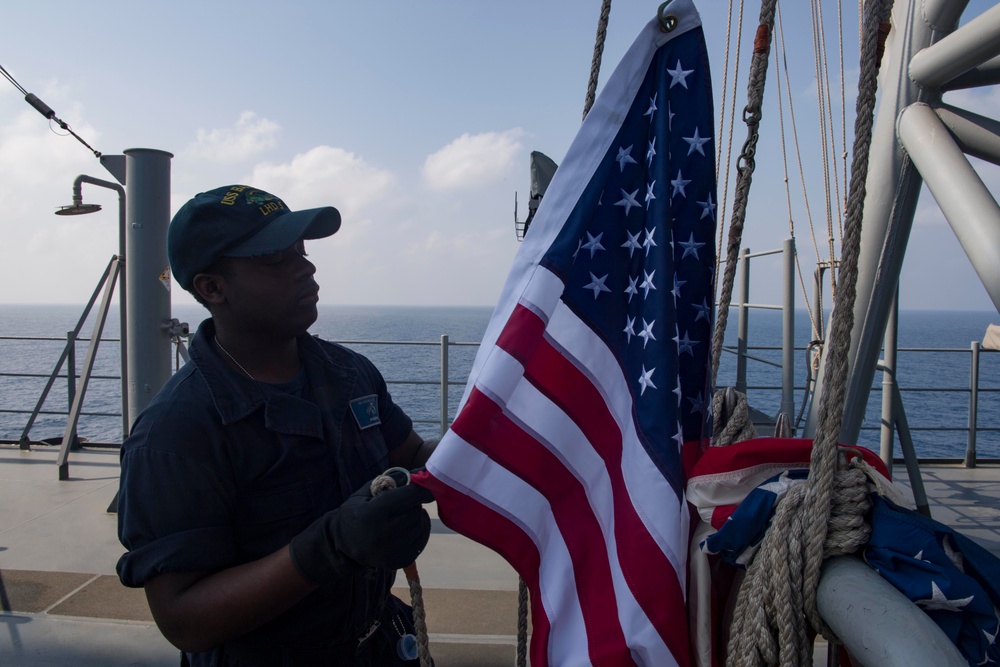
[{"label": "sailor in dark cap and navy uniform holding the flag", "polygon": [[307,333],[305,241],[340,222],[232,185],[170,223],[173,275],[211,317],[122,445],[117,569],[182,664],[416,664],[390,587],[430,534],[433,498],[405,482],[436,443],[368,359]]}]

